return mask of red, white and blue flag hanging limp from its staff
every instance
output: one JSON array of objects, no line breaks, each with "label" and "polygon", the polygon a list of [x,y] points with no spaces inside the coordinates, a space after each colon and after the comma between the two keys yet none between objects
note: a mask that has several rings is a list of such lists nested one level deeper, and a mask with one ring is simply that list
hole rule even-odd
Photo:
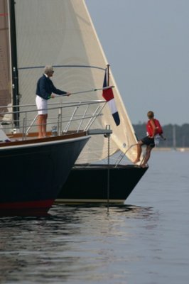
[{"label": "red, white and blue flag hanging limp from its staff", "polygon": [[107,101],[109,105],[109,109],[112,112],[112,116],[114,118],[115,124],[118,126],[120,124],[119,113],[117,111],[117,106],[114,100],[114,93],[113,93],[112,87],[108,88],[107,70],[105,71],[105,75],[104,75],[103,88],[106,88],[106,89],[103,89],[102,97]]}]

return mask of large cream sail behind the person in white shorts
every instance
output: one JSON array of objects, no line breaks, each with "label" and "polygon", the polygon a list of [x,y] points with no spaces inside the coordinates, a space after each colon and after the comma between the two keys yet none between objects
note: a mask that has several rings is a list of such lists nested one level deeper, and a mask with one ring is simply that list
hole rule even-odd
[{"label": "large cream sail behind the person in white shorts", "polygon": [[[45,65],[53,65],[53,82],[58,89],[81,92],[101,88],[104,70],[108,64],[84,0],[16,0],[16,40],[18,56],[18,83],[21,104],[34,104],[36,82]],[[120,124],[112,118],[108,104],[96,119],[93,129],[110,125],[110,153],[118,150],[130,160],[136,158],[136,136],[119,94],[112,72],[114,99],[119,111]],[[102,90],[60,97],[53,102],[102,100]],[[74,128],[74,125],[72,124]],[[129,149],[130,148],[130,149]],[[129,150],[128,150],[129,149]],[[128,151],[127,151],[128,150]],[[107,138],[92,139],[77,163],[97,161],[107,157]]]}]

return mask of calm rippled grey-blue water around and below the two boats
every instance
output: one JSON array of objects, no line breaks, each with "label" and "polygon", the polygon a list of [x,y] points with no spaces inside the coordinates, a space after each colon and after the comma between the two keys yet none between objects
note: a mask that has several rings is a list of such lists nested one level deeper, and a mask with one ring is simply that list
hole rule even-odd
[{"label": "calm rippled grey-blue water around and below the two boats", "polygon": [[189,283],[189,152],[153,151],[121,207],[0,219],[0,283]]}]

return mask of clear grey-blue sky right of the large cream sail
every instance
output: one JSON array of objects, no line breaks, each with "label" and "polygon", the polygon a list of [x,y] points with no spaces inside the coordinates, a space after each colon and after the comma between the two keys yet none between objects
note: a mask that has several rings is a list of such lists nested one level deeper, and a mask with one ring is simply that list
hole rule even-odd
[{"label": "clear grey-blue sky right of the large cream sail", "polygon": [[85,0],[132,124],[189,124],[189,0]]}]

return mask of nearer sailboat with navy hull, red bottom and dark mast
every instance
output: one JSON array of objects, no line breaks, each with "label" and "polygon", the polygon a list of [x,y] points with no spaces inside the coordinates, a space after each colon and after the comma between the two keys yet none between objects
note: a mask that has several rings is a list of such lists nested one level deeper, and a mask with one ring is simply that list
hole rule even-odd
[{"label": "nearer sailboat with navy hull, red bottom and dark mast", "polygon": [[31,216],[48,213],[90,136],[86,131],[63,135],[65,106],[52,107],[53,115],[58,111],[53,124],[58,121],[59,133],[41,139],[35,131],[28,133],[28,125],[36,127],[29,122],[36,107],[19,104],[18,87],[28,78],[18,71],[14,5],[0,2],[0,216]]}]

